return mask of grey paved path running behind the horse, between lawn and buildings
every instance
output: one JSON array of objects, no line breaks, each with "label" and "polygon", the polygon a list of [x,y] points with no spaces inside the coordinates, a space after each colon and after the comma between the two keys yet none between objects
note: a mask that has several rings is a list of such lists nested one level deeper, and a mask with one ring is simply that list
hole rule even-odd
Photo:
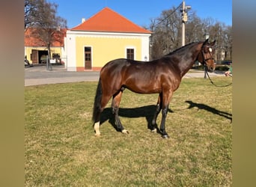
[{"label": "grey paved path running behind the horse, between lawn and buildings", "polygon": [[[97,82],[100,73],[94,71],[68,72],[64,66],[53,66],[52,70],[46,70],[46,66],[25,67],[25,86],[47,85],[66,82]],[[209,73],[209,76],[224,76],[222,72]],[[190,70],[184,78],[201,77],[204,72]]]}]

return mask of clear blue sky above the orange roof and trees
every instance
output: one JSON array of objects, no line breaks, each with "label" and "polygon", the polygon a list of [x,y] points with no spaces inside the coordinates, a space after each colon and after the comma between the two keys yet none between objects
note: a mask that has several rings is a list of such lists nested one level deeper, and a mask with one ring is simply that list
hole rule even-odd
[{"label": "clear blue sky above the orange roof and trees", "polygon": [[[178,7],[182,0],[47,0],[58,4],[58,16],[67,19],[67,28],[81,24],[82,18],[89,19],[104,7],[126,17],[140,26],[150,25],[150,19],[161,15],[162,10]],[[212,18],[232,25],[232,0],[185,0],[186,6],[191,6],[201,19]],[[190,11],[190,10],[189,10]],[[189,14],[188,14],[189,15]],[[180,18],[181,19],[181,18]]]}]

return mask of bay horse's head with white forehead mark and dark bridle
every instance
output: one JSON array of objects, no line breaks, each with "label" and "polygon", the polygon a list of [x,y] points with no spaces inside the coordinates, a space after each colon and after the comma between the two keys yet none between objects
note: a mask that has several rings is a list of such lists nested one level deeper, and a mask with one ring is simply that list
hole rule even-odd
[{"label": "bay horse's head with white forehead mark and dark bridle", "polygon": [[208,39],[204,41],[203,46],[201,47],[201,52],[198,55],[198,61],[200,61],[203,65],[207,65],[208,70],[213,72],[215,70],[215,61],[213,58],[213,54],[215,49],[213,46],[215,45],[216,40],[212,43],[208,43]]}]

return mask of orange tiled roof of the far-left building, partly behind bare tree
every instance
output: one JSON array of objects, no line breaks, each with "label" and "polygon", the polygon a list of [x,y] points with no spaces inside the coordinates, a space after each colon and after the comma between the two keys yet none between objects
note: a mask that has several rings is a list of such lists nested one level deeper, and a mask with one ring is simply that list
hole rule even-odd
[{"label": "orange tiled roof of the far-left building, partly behind bare tree", "polygon": [[[24,46],[46,46],[46,43],[38,37],[39,28],[27,28],[25,30]],[[56,31],[53,35],[54,41],[51,46],[64,46],[64,37],[66,37],[66,28],[61,28],[61,31]]]}]

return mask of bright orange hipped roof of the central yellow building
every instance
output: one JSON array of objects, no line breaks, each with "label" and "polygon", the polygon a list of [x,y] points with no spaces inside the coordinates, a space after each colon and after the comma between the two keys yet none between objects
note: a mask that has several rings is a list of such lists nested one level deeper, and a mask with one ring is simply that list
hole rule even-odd
[{"label": "bright orange hipped roof of the central yellow building", "polygon": [[94,16],[91,16],[82,24],[71,28],[73,31],[110,31],[110,32],[129,32],[129,33],[146,33],[150,31],[129,21],[124,16],[116,13],[109,7],[103,8]]}]

